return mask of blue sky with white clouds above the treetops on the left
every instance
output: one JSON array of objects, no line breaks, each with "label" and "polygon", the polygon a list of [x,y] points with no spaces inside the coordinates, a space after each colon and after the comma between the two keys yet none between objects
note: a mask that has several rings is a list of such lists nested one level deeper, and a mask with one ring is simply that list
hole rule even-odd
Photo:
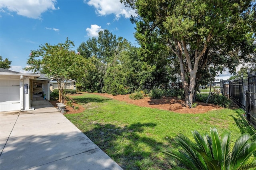
[{"label": "blue sky with white clouds above the treetops on the left", "polygon": [[107,29],[136,45],[134,11],[119,0],[1,0],[0,55],[11,70],[25,72],[31,50],[69,40],[74,49]]}]

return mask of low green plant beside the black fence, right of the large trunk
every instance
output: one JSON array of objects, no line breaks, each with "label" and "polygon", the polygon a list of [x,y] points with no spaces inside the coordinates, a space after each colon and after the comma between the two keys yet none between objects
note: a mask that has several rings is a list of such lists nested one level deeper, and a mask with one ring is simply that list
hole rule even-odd
[{"label": "low green plant beside the black fence, right of the large trunk", "polygon": [[229,108],[232,104],[232,100],[222,95],[211,95],[208,102],[226,108]]}]

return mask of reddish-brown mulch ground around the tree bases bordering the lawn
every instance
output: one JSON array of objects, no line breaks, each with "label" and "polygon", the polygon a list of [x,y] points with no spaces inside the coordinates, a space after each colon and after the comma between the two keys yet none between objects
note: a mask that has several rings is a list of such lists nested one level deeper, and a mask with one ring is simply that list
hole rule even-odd
[{"label": "reddish-brown mulch ground around the tree bases bordering the lawn", "polygon": [[[84,93],[78,93],[75,95],[83,95]],[[92,93],[95,95],[100,95],[103,97],[108,97],[110,99],[115,99],[118,101],[124,101],[126,103],[134,104],[141,107],[150,107],[150,108],[156,108],[156,109],[162,109],[167,111],[174,111],[176,113],[190,113],[190,114],[196,114],[196,113],[206,113],[208,111],[221,109],[221,107],[217,105],[212,104],[205,104],[202,102],[196,102],[198,103],[196,108],[189,109],[188,107],[185,107],[185,102],[183,100],[179,100],[176,97],[163,97],[162,99],[150,99],[150,97],[144,97],[144,99],[140,100],[132,100],[129,98],[129,95],[110,95],[106,93]],[[72,97],[73,95],[70,95]],[[57,101],[58,102],[58,101]],[[56,102],[56,103],[57,103]],[[74,103],[74,105],[77,105]],[[72,113],[80,113],[84,111],[84,107],[79,106],[78,110],[74,110],[73,108],[66,107],[66,113],[72,114]],[[57,107],[57,106],[56,106]]]}]

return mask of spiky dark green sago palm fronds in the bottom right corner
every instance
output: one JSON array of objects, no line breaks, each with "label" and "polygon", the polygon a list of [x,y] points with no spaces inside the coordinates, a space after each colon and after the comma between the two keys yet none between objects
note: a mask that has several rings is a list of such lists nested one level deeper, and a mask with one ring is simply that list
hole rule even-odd
[{"label": "spiky dark green sago palm fronds in the bottom right corner", "polygon": [[230,132],[223,132],[220,138],[216,128],[211,128],[210,134],[201,135],[195,130],[192,135],[195,142],[183,134],[176,136],[178,148],[168,148],[165,153],[187,169],[256,170],[256,141],[250,134],[242,134],[235,143]]}]

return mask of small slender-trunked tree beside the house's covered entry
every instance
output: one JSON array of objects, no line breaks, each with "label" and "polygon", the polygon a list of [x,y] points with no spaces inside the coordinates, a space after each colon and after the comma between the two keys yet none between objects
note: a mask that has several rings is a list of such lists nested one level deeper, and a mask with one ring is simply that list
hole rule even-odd
[{"label": "small slender-trunked tree beside the house's covered entry", "polygon": [[58,82],[59,99],[64,103],[65,83],[69,79],[76,79],[84,73],[85,59],[76,54],[75,51],[70,50],[71,47],[74,47],[74,43],[68,38],[65,43],[58,43],[57,45],[45,43],[39,47],[39,49],[31,51],[30,58],[27,61],[29,66],[24,70],[55,77]]}]

